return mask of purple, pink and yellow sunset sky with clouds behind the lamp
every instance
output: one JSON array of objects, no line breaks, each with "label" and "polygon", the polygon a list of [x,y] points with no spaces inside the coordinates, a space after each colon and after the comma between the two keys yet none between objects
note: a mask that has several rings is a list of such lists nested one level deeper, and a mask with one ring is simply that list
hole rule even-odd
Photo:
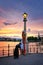
[{"label": "purple, pink and yellow sunset sky with clouds behind the lamp", "polygon": [[0,36],[21,37],[24,12],[27,36],[43,35],[43,0],[0,0]]}]

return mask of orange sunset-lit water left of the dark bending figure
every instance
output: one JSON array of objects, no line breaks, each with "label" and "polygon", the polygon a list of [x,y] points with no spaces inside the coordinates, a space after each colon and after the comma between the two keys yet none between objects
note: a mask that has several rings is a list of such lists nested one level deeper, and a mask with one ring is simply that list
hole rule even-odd
[{"label": "orange sunset-lit water left of the dark bending figure", "polygon": [[19,44],[19,42],[0,41],[0,56],[3,56],[3,49],[5,50],[4,55],[8,55],[8,45],[10,46],[10,55],[12,55],[13,49],[17,44]]}]

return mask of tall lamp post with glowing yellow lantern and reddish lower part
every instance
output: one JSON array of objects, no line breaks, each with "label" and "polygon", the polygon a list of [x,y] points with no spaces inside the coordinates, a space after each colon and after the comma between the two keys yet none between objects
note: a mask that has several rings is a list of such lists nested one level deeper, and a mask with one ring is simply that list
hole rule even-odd
[{"label": "tall lamp post with glowing yellow lantern and reddish lower part", "polygon": [[23,14],[23,22],[24,22],[24,31],[22,32],[22,39],[23,39],[23,44],[24,44],[24,55],[26,54],[26,21],[27,21],[27,13]]}]

